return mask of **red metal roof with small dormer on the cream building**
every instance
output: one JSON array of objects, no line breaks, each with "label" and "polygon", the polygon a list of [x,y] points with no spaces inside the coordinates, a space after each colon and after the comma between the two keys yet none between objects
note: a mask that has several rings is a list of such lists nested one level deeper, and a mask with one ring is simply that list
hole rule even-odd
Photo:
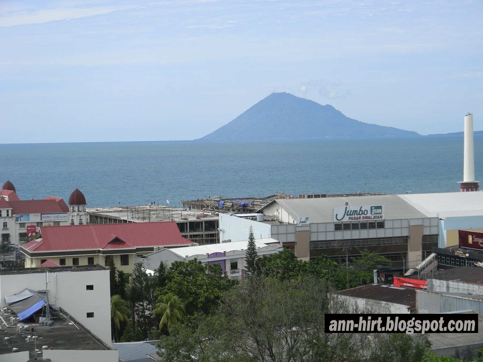
[{"label": "red metal roof with small dormer on the cream building", "polygon": [[22,246],[28,251],[124,249],[189,246],[173,221],[95,225],[41,226],[41,239]]}]

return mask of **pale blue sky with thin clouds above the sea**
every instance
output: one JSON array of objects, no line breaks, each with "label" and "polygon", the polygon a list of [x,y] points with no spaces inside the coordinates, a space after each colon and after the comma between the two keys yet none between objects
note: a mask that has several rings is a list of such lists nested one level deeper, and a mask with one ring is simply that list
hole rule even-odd
[{"label": "pale blue sky with thin clouds above the sea", "polygon": [[273,92],[483,130],[481,0],[0,0],[2,143],[197,139]]}]

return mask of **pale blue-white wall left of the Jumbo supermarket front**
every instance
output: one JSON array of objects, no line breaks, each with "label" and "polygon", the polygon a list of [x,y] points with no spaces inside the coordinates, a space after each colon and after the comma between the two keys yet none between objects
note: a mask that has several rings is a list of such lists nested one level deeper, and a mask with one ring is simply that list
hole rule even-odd
[{"label": "pale blue-white wall left of the Jumbo supermarket front", "polygon": [[252,226],[253,235],[256,239],[266,239],[271,237],[270,224],[222,213],[220,213],[219,216],[220,229],[225,230],[225,232],[220,231],[220,241],[227,239],[231,239],[231,241],[248,240],[250,226]]}]

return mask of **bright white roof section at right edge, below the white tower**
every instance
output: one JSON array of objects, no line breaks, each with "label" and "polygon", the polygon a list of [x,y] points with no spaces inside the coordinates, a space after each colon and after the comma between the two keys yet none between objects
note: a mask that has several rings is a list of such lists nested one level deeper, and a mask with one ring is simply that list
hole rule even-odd
[{"label": "bright white roof section at right edge, below the white tower", "polygon": [[398,195],[428,217],[483,215],[483,192]]}]

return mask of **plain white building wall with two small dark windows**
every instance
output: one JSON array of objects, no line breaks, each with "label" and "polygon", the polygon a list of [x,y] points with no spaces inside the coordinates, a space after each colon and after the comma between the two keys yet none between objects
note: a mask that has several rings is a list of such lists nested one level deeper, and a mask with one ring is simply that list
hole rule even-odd
[{"label": "plain white building wall with two small dark windows", "polygon": [[[94,290],[86,290],[86,285],[93,285]],[[5,305],[5,296],[25,288],[45,290],[45,273],[1,275],[1,306]],[[109,270],[49,272],[47,289],[55,308],[63,308],[102,341],[111,344]],[[87,318],[88,312],[94,312],[94,318]]]}]

